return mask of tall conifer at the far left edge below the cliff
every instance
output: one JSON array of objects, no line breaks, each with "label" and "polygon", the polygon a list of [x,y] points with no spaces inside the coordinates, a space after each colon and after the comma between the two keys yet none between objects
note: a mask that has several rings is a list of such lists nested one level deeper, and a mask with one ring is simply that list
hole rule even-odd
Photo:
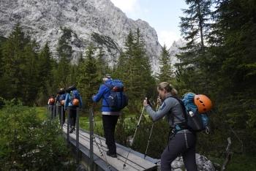
[{"label": "tall conifer at the far left edge below the cliff", "polygon": [[24,47],[29,42],[29,37],[23,33],[20,23],[17,23],[7,42],[2,48],[1,58],[1,94],[6,99],[22,99],[23,88],[21,78],[24,76]]}]

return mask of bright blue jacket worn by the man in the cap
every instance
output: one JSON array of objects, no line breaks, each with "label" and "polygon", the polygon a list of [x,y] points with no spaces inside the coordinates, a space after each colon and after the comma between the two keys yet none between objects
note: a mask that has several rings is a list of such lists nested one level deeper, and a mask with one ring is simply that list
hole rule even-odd
[{"label": "bright blue jacket worn by the man in the cap", "polygon": [[[112,80],[107,80],[106,83],[111,84]],[[102,99],[102,112],[111,112],[110,108],[108,107],[109,95],[110,95],[110,88],[108,88],[108,86],[106,86],[105,84],[102,84],[102,86],[99,87],[98,93],[92,98],[94,102],[99,102],[99,100]]]}]

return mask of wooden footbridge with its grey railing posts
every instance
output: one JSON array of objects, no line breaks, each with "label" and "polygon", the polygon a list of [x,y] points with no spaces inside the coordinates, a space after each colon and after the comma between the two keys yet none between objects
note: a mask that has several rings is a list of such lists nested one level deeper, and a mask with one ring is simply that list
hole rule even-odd
[{"label": "wooden footbridge with its grey railing posts", "polygon": [[[69,133],[69,126],[65,123],[62,126],[66,134],[65,141],[68,142],[69,148],[72,149],[72,155],[77,163],[81,164],[86,171],[102,170],[154,170],[157,171],[157,159],[152,159],[144,154],[133,151],[130,148],[116,144],[117,158],[107,156],[107,145],[105,138],[99,137],[93,133],[93,114],[90,113],[90,131],[79,128],[79,113],[77,109],[77,124],[75,132]],[[69,118],[69,117],[68,117]]]}]

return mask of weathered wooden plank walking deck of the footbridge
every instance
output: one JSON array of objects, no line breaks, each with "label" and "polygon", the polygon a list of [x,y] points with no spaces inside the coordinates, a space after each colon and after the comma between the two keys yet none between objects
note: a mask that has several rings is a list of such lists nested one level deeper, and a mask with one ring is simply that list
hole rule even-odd
[{"label": "weathered wooden plank walking deck of the footbridge", "polygon": [[[64,129],[64,132],[67,134],[67,125],[64,125],[63,129]],[[79,137],[80,144],[89,149],[90,148],[89,133],[83,132],[83,130],[80,129],[79,134],[80,134],[80,137]],[[75,132],[72,134],[69,134],[69,136],[72,137],[73,139],[76,139]],[[102,160],[107,161],[108,164],[110,164],[110,166],[114,167],[116,170],[127,170],[127,171],[151,170],[152,168],[157,167],[156,164],[151,163],[150,161],[147,161],[139,156],[136,156],[133,153],[129,153],[129,157],[127,158],[128,151],[125,151],[124,149],[118,148],[118,147],[116,148],[117,158],[112,158],[110,156],[107,156],[106,151],[108,151],[108,148],[106,147],[107,145],[105,145],[105,140],[99,139],[99,137],[95,137],[95,141],[98,143],[101,151],[102,150],[103,151],[102,153],[100,153],[97,143],[94,142],[94,153],[97,156],[99,156],[99,158],[101,158]],[[126,167],[124,167],[124,162],[126,158],[127,158]]]}]

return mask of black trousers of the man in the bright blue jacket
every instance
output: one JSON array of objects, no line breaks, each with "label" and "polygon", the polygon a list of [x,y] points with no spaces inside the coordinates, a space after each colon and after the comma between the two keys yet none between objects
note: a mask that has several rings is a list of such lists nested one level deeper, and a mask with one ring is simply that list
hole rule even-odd
[{"label": "black trousers of the man in the bright blue jacket", "polygon": [[110,154],[116,154],[115,129],[119,115],[102,115],[106,145]]}]

